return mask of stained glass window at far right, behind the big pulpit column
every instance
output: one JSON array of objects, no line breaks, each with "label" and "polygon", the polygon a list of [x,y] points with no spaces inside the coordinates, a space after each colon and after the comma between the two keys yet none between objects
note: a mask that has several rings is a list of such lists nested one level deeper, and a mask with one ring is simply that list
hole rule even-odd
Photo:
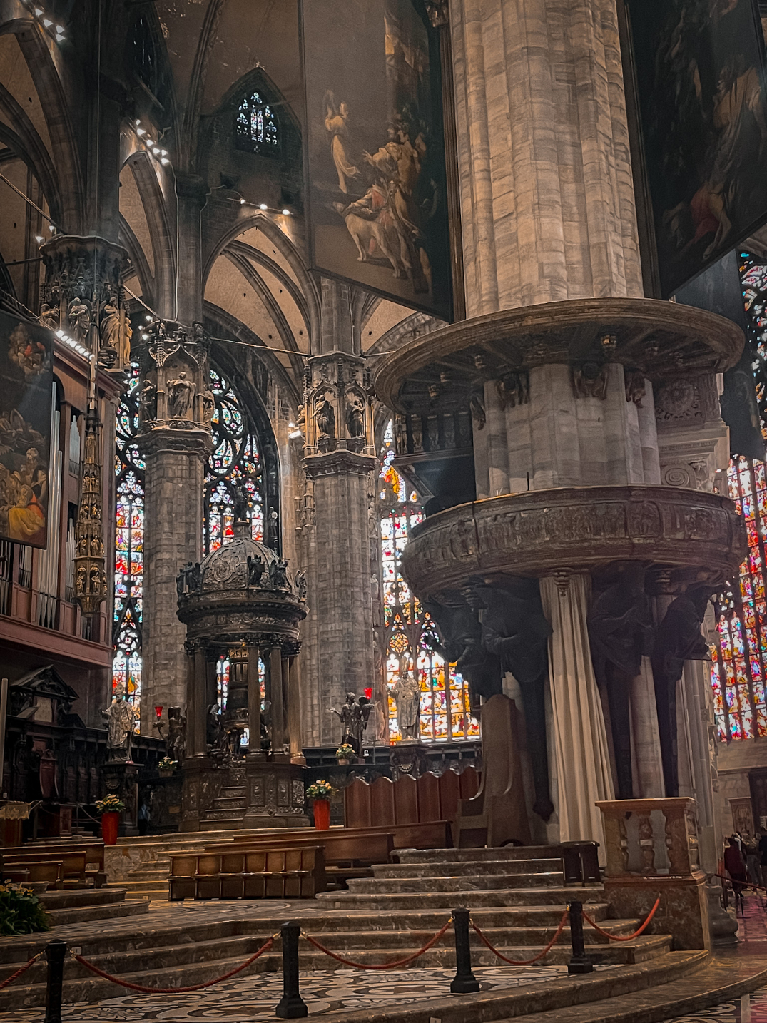
[{"label": "stained glass window at far right, behind the big pulpit column", "polygon": [[[767,264],[741,254],[740,280],[754,351],[762,435],[767,438]],[[749,554],[738,578],[714,602],[717,634],[712,644],[711,685],[720,740],[767,736],[767,608],[765,462],[736,457],[727,472],[730,497],[746,521]]]}]

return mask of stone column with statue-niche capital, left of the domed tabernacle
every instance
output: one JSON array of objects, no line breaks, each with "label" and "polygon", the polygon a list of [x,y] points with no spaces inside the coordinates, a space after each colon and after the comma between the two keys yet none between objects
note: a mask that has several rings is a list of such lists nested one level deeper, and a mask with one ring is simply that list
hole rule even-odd
[{"label": "stone column with statue-niche capital, left of the domed tabernacle", "polygon": [[138,339],[140,434],[145,469],[143,694],[141,728],[155,706],[185,705],[184,627],[176,617],[176,577],[202,548],[202,483],[212,449],[208,343],[191,328],[156,320]]}]

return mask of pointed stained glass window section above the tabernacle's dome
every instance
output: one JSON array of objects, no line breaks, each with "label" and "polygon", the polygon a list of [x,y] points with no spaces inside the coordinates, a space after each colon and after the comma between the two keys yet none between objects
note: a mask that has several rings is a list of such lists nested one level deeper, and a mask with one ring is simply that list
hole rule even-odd
[{"label": "pointed stained glass window section above the tabernacle's dome", "polygon": [[207,554],[232,539],[238,499],[249,503],[254,540],[264,539],[263,478],[256,434],[231,384],[216,369],[211,369],[211,390],[216,409],[211,422],[213,454],[208,459],[205,483]]}]

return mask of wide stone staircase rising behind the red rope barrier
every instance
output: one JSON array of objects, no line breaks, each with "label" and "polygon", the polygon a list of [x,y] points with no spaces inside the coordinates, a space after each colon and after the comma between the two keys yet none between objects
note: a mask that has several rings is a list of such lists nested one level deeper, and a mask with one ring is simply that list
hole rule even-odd
[{"label": "wide stone staircase rising behind the red rope barrier", "polygon": [[[174,838],[179,842],[181,836]],[[191,835],[184,838],[195,840]],[[211,901],[193,906],[189,902],[173,903],[157,905],[140,922],[115,920],[108,927],[73,924],[57,927],[53,936],[78,946],[96,966],[124,980],[166,987],[221,976],[256,951],[286,919],[301,921],[307,933],[336,954],[372,965],[399,960],[421,947],[449,919],[450,910],[459,906],[470,909],[471,920],[491,944],[508,959],[516,960],[532,959],[541,950],[556,930],[568,900],[576,895],[592,919],[604,922],[610,918],[600,885],[565,885],[560,850],[556,847],[398,850],[395,855],[399,861],[374,866],[372,878],[350,880],[348,891],[325,892],[313,900],[294,902],[289,908],[281,903],[273,913],[264,900]],[[149,882],[154,883],[154,879]],[[639,923],[610,920],[608,927],[625,936]],[[0,939],[0,982],[39,951],[48,937]],[[470,940],[476,966],[502,965],[473,932]],[[578,996],[581,1002],[665,984],[704,966],[708,960],[705,951],[672,950],[671,938],[665,934],[643,934],[630,941],[611,943],[587,928],[586,942],[588,953],[600,969],[589,982],[589,996],[583,992]],[[570,930],[566,927],[541,965],[561,966],[570,955]],[[300,957],[302,970],[348,968],[306,940],[300,943]],[[414,964],[448,969],[454,965],[452,928]],[[276,940],[273,948],[242,976],[280,969],[280,943]],[[0,1012],[43,1005],[45,966],[36,964],[25,981],[26,986],[16,983],[0,991]],[[559,991],[557,997],[565,997],[562,985],[571,981],[575,983],[575,978],[569,981],[566,973],[557,975],[553,985]],[[537,996],[543,997],[541,1008],[567,1005],[567,998],[563,1003],[546,1000],[550,986],[536,985]],[[524,992],[525,988],[520,987],[508,997],[521,998]],[[95,1002],[119,993],[120,989],[108,981],[76,962],[67,962],[65,1002]],[[516,1010],[512,1014],[516,1015]]]}]

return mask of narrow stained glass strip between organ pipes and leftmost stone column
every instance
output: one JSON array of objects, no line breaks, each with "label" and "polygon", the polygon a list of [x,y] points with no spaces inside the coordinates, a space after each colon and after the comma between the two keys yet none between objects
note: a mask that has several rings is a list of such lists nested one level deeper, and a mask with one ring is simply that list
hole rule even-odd
[{"label": "narrow stained glass strip between organ pipes and leftmost stone column", "polygon": [[131,375],[117,417],[115,531],[115,620],[111,687],[125,686],[133,705],[136,731],[141,710],[141,605],[143,597],[144,462],[135,443],[138,433],[138,366]]}]

